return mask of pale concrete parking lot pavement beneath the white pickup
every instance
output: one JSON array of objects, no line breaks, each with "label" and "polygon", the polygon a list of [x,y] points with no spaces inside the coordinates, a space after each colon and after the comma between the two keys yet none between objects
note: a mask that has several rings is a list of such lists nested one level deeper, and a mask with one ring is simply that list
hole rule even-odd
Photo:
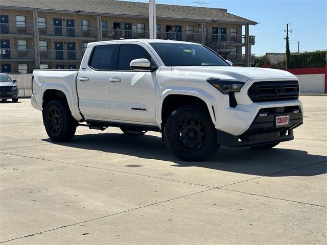
[{"label": "pale concrete parking lot pavement beneath the white pickup", "polygon": [[326,244],[327,97],[269,151],[182,162],[160,134],[77,129],[48,139],[28,99],[0,103],[0,242]]}]

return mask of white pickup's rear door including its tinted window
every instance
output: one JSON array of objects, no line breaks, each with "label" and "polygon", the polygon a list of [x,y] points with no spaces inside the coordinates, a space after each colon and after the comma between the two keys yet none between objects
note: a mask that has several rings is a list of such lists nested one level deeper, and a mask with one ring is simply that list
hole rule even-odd
[{"label": "white pickup's rear door including its tinted window", "polygon": [[115,46],[115,42],[95,46],[88,64],[81,64],[77,76],[77,92],[79,108],[86,119],[109,118],[109,78]]}]

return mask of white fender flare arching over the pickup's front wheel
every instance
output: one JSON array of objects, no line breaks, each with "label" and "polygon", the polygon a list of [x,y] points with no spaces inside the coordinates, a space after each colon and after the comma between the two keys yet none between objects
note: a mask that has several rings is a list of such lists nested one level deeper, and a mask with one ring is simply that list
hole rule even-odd
[{"label": "white fender flare arching over the pickup's front wheel", "polygon": [[[208,92],[202,90],[202,89],[194,89],[194,88],[188,88],[188,87],[168,87],[162,90],[162,92],[159,94],[158,99],[156,100],[156,104],[159,106],[158,110],[156,110],[156,118],[157,118],[157,125],[161,128],[161,111],[162,111],[162,104],[164,103],[164,100],[167,96],[176,94],[176,95],[190,95],[194,97],[198,97],[200,100],[202,100],[209,111],[210,117],[213,121],[214,125],[217,125],[217,105],[215,98],[209,94]],[[215,114],[214,114],[214,111]]]}]

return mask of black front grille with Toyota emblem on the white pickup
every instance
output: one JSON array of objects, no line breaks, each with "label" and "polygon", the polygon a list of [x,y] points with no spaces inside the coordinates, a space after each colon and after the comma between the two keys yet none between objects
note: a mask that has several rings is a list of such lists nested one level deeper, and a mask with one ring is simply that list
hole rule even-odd
[{"label": "black front grille with Toyota emblem on the white pickup", "polygon": [[255,82],[248,90],[253,102],[297,100],[298,81]]}]

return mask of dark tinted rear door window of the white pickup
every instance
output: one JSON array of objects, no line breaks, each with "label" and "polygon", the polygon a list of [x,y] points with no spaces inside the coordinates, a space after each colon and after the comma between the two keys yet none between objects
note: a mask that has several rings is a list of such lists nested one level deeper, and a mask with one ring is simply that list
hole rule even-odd
[{"label": "dark tinted rear door window of the white pickup", "polygon": [[112,57],[115,45],[99,45],[94,48],[90,66],[99,70],[112,69]]}]

